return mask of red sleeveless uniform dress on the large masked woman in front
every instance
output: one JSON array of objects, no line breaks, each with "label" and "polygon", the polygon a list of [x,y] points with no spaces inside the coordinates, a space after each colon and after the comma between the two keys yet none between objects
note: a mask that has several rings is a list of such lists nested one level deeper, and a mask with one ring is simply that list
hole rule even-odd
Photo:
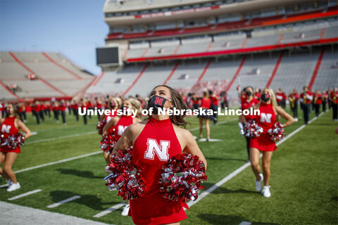
[{"label": "red sleeveless uniform dress on the large masked woman in front", "polygon": [[162,165],[174,155],[182,154],[182,147],[170,119],[156,120],[150,117],[134,142],[132,160],[144,167],[144,194],[130,200],[129,215],[134,224],[171,224],[187,219],[182,207],[186,203],[168,200],[160,192]]}]

